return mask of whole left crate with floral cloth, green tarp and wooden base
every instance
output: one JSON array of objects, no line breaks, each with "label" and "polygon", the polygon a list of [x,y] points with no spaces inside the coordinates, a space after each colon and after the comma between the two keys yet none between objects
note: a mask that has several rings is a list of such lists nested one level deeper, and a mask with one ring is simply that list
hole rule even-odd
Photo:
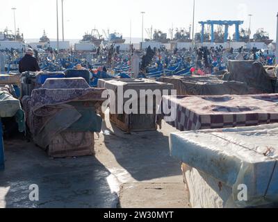
[{"label": "whole left crate with floral cloth, green tarp and wooden base", "polygon": [[31,96],[24,96],[35,144],[53,157],[91,155],[93,133],[101,131],[103,91],[91,88],[83,78],[48,78]]}]

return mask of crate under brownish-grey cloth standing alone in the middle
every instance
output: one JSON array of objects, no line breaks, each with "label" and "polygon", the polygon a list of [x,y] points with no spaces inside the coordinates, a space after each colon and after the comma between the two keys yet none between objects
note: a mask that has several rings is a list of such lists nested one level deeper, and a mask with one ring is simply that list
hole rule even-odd
[{"label": "crate under brownish-grey cloth standing alone in the middle", "polygon": [[[106,88],[115,93],[115,102],[112,101],[115,110],[111,108],[110,104],[110,120],[116,124],[116,126],[124,131],[146,131],[146,130],[156,130],[156,111],[157,111],[157,103],[161,101],[161,96],[163,95],[163,90],[165,94],[170,94],[171,89],[173,89],[172,84],[168,83],[160,83],[154,80],[147,79],[99,79],[98,87]],[[131,112],[131,114],[127,114],[126,110],[122,110],[123,112],[119,112],[117,108],[122,107],[126,101],[134,100],[131,95],[130,98],[126,98],[124,94],[126,92],[134,93],[136,96],[137,107],[134,108],[136,112]],[[146,94],[140,94],[140,92],[144,91]],[[158,92],[159,96],[156,96],[154,92]],[[111,98],[111,97],[110,97]],[[117,99],[123,98],[122,104]],[[148,104],[147,99],[152,98],[152,104]],[[140,101],[145,101],[145,105],[140,107]],[[151,110],[147,107],[151,106]],[[149,112],[151,113],[149,113]]]}]

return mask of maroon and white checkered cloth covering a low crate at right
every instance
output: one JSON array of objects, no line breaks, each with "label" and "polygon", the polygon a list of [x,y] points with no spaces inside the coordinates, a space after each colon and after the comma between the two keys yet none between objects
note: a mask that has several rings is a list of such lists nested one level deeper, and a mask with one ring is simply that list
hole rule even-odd
[{"label": "maroon and white checkered cloth covering a low crate at right", "polygon": [[[278,94],[163,96],[161,110],[163,103],[177,105],[177,116],[167,123],[181,131],[278,123]],[[165,116],[157,115],[159,126]]]}]

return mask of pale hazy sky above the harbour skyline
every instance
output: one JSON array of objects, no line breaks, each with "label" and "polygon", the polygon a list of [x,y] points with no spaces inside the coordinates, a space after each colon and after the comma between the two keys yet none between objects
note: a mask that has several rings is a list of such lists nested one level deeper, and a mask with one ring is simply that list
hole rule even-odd
[{"label": "pale hazy sky above the harbour skyline", "polygon": [[[41,37],[43,30],[49,37],[56,37],[56,0],[9,0],[1,2],[0,29],[14,30],[13,12],[15,7],[17,28],[25,38]],[[60,0],[59,14],[60,13]],[[130,20],[132,37],[141,37],[142,17],[145,11],[145,28],[153,26],[164,32],[169,29],[188,28],[193,21],[193,0],[64,0],[65,38],[80,39],[85,31],[96,27],[109,28],[129,37]],[[195,31],[197,22],[207,19],[244,20],[243,28],[249,27],[248,14],[252,17],[252,33],[265,28],[271,38],[276,39],[278,1],[258,0],[196,0]],[[60,22],[61,27],[61,22]],[[230,28],[234,33],[234,27]],[[147,37],[147,33],[144,34]],[[60,29],[60,37],[62,32]]]}]

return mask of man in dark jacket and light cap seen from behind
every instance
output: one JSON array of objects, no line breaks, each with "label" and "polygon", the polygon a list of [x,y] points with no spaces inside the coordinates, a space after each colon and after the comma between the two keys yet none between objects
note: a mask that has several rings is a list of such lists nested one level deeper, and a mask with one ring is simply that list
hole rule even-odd
[{"label": "man in dark jacket and light cap seen from behind", "polygon": [[37,60],[33,57],[33,49],[27,49],[25,56],[19,61],[19,72],[40,71]]}]

